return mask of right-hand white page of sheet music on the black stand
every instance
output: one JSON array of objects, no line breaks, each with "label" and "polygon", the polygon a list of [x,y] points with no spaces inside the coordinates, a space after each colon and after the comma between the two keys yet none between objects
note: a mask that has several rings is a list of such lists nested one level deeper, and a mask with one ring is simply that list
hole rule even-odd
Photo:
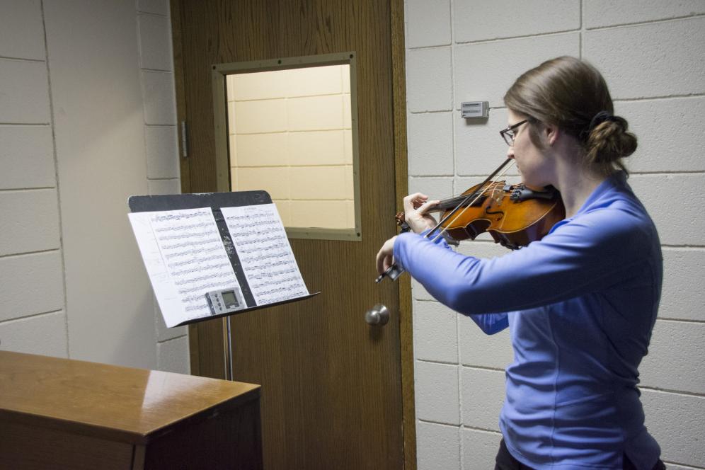
[{"label": "right-hand white page of sheet music on the black stand", "polygon": [[258,305],[309,294],[274,204],[220,210]]}]

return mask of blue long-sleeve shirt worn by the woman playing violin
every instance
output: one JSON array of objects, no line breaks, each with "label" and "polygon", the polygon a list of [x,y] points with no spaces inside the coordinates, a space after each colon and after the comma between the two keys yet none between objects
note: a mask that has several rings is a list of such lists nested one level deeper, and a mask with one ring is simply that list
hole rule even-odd
[{"label": "blue long-sleeve shirt worn by the woman playing violin", "polygon": [[651,469],[660,448],[643,424],[638,365],[658,311],[658,234],[624,173],[601,183],[540,241],[480,259],[401,234],[394,258],[483,331],[510,328],[500,429],[534,469]]}]

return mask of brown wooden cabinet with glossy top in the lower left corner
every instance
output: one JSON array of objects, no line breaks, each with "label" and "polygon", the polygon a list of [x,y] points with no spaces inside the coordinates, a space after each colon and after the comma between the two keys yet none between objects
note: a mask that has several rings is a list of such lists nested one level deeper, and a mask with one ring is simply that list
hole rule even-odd
[{"label": "brown wooden cabinet with glossy top in the lower left corner", "polygon": [[0,351],[0,469],[262,469],[260,387]]}]

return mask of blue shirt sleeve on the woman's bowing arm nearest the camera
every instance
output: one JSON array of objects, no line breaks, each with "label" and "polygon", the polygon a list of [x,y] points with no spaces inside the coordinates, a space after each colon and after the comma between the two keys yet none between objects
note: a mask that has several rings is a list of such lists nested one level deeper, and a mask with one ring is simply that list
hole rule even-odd
[{"label": "blue shirt sleeve on the woman's bowing arm nearest the camera", "polygon": [[[394,258],[437,300],[474,316],[531,309],[605,289],[629,277],[650,253],[643,249],[648,234],[638,220],[618,210],[590,212],[559,224],[540,241],[491,259],[401,234]],[[499,322],[486,319],[483,327],[476,319],[483,330],[498,328]]]}]

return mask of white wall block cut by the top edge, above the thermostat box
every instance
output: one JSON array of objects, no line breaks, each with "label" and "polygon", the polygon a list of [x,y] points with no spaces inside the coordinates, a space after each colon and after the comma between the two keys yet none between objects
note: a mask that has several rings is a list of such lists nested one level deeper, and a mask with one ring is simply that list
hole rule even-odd
[{"label": "white wall block cut by the top edge, above the thermostat box", "polygon": [[526,4],[519,0],[461,0],[455,1],[453,8],[455,42],[580,29],[580,0],[534,0],[531,8],[526,8]]}]

